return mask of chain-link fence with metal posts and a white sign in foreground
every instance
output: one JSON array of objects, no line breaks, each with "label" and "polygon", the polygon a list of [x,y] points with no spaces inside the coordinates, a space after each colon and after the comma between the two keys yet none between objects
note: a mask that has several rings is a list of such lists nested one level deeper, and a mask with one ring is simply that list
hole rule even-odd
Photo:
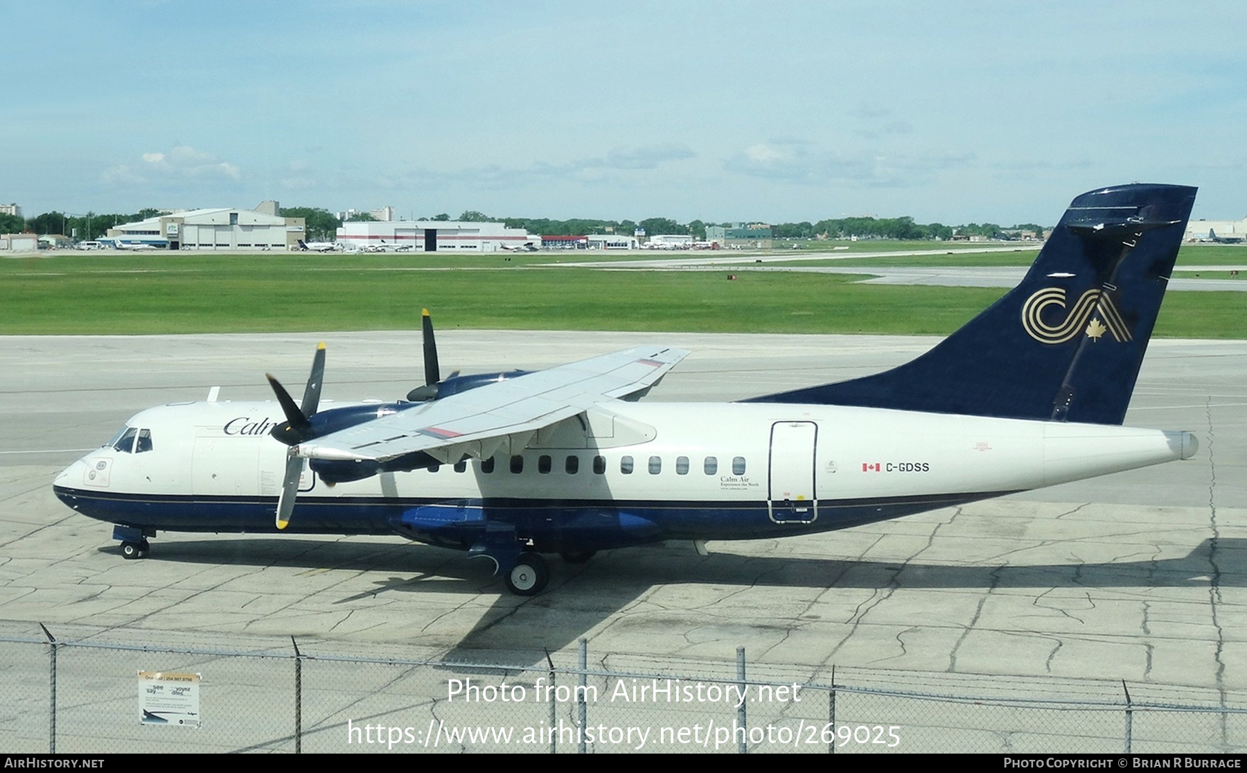
[{"label": "chain-link fence with metal posts and a white sign in foreground", "polygon": [[[1247,708],[1156,684],[594,653],[535,663],[0,636],[0,748],[110,752],[1217,753]],[[339,644],[340,646],[340,644]],[[796,676],[794,676],[796,674]],[[1061,694],[1054,694],[1059,692]],[[1131,697],[1131,692],[1136,694]]]}]

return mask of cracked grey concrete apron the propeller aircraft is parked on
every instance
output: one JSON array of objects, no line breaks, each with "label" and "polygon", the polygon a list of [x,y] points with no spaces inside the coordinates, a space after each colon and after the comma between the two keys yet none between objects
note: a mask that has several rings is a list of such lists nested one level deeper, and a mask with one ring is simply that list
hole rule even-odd
[{"label": "cracked grey concrete apron the propeller aircraft is parked on", "polygon": [[[416,332],[0,338],[0,621],[102,639],[253,636],[412,657],[542,648],[731,659],[809,673],[1127,679],[1247,689],[1247,342],[1153,341],[1129,425],[1188,430],[1196,458],[782,541],[552,562],[506,594],[483,562],[394,538],[161,534],[123,561],[52,476],[163,402],[268,398],[328,342],[325,397],[393,400]],[[733,400],[883,370],[929,337],[439,332],[444,371],[540,368],[647,342],[692,350],[650,401]]]}]

